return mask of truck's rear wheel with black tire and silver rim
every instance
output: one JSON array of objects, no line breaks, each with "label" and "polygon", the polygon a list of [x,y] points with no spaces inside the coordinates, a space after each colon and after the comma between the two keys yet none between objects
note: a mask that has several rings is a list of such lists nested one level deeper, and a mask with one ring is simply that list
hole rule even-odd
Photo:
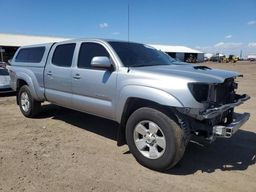
[{"label": "truck's rear wheel with black tire and silver rim", "polygon": [[29,86],[22,86],[18,94],[22,114],[28,118],[37,116],[40,112],[41,102],[34,99]]}]

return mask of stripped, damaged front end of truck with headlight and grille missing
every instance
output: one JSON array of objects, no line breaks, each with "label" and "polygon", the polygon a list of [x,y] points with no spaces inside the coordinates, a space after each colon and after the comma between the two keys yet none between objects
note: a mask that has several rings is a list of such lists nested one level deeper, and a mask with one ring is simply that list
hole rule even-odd
[{"label": "stripped, damaged front end of truck with headlight and grille missing", "polygon": [[209,142],[218,137],[229,138],[249,119],[249,113],[234,112],[234,107],[250,99],[247,94],[236,94],[238,84],[235,79],[226,78],[223,83],[188,83],[192,96],[203,108],[176,110],[186,114],[192,134]]}]

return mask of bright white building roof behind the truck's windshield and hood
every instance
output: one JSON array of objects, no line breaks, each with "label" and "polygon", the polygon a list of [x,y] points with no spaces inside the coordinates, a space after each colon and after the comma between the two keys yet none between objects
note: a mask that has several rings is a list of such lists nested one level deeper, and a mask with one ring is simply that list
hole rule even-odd
[{"label": "bright white building roof behind the truck's windshield and hood", "polygon": [[161,50],[162,52],[203,53],[185,46],[152,45],[152,44],[148,44],[148,45],[154,47],[157,50]]}]

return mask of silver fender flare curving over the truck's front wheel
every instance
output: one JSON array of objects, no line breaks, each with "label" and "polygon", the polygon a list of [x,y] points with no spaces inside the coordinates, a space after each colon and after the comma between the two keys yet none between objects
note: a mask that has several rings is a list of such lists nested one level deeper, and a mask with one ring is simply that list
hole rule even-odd
[{"label": "silver fender flare curving over the truck's front wheel", "polygon": [[156,102],[161,105],[184,107],[184,105],[173,95],[152,87],[139,86],[139,85],[127,85],[124,86],[116,99],[116,121],[121,122],[122,112],[128,98],[141,98]]}]

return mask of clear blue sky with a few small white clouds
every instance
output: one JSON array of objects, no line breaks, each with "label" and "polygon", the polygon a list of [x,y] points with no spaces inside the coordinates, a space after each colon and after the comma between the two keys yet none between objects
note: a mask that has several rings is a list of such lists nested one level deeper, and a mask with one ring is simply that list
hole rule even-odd
[{"label": "clear blue sky with a few small white clouds", "polygon": [[0,29],[256,53],[256,0],[8,0]]}]

